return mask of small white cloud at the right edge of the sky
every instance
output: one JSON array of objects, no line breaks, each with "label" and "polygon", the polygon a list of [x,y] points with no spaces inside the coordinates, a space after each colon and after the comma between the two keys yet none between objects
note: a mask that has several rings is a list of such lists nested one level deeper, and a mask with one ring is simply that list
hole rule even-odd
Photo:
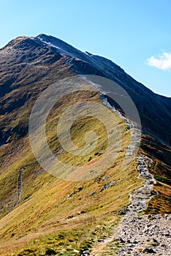
[{"label": "small white cloud at the right edge of the sky", "polygon": [[171,53],[162,53],[159,56],[151,56],[147,59],[149,66],[157,67],[158,69],[171,69]]}]

